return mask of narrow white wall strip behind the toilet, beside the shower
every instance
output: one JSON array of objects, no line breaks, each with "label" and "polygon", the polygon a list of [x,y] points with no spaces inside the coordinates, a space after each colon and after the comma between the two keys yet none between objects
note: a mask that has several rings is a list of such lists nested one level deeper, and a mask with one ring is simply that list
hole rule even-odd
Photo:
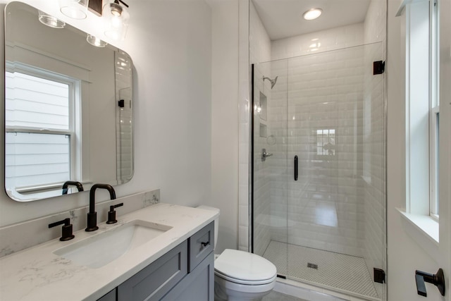
[{"label": "narrow white wall strip behind the toilet, beside the shower", "polygon": [[221,210],[215,252],[238,246],[238,0],[211,0],[211,199]]}]

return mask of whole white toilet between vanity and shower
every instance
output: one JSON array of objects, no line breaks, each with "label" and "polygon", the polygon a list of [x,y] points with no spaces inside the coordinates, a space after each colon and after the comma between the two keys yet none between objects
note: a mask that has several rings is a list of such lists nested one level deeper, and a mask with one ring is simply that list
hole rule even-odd
[{"label": "whole white toilet between vanity and shower", "polygon": [[[199,209],[218,211],[213,207]],[[214,243],[218,238],[218,219],[214,221]],[[249,252],[226,249],[215,255],[215,301],[261,300],[276,284],[276,266],[267,259]]]}]

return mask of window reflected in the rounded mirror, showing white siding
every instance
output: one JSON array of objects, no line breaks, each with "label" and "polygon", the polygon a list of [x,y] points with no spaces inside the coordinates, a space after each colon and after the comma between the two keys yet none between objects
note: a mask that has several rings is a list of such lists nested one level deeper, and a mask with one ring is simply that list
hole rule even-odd
[{"label": "window reflected in the rounded mirror, showing white siding", "polygon": [[76,174],[77,83],[32,67],[6,69],[6,186],[20,193],[60,186]]}]

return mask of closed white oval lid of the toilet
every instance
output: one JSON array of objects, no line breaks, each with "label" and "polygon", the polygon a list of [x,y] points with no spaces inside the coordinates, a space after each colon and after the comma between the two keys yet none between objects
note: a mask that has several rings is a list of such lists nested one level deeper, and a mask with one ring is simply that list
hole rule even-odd
[{"label": "closed white oval lid of the toilet", "polygon": [[232,278],[235,282],[263,284],[273,281],[277,276],[276,266],[267,259],[239,250],[224,250],[215,260],[214,269],[216,274]]}]

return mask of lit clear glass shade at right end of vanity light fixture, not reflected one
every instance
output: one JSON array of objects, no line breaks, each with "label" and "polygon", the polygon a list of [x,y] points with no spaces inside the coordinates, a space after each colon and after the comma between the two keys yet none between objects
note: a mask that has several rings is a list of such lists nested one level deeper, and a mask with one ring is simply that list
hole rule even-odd
[{"label": "lit clear glass shade at right end of vanity light fixture, not reflected one", "polygon": [[109,1],[105,4],[102,13],[104,17],[104,33],[111,39],[125,39],[130,14],[128,7],[121,1]]}]

